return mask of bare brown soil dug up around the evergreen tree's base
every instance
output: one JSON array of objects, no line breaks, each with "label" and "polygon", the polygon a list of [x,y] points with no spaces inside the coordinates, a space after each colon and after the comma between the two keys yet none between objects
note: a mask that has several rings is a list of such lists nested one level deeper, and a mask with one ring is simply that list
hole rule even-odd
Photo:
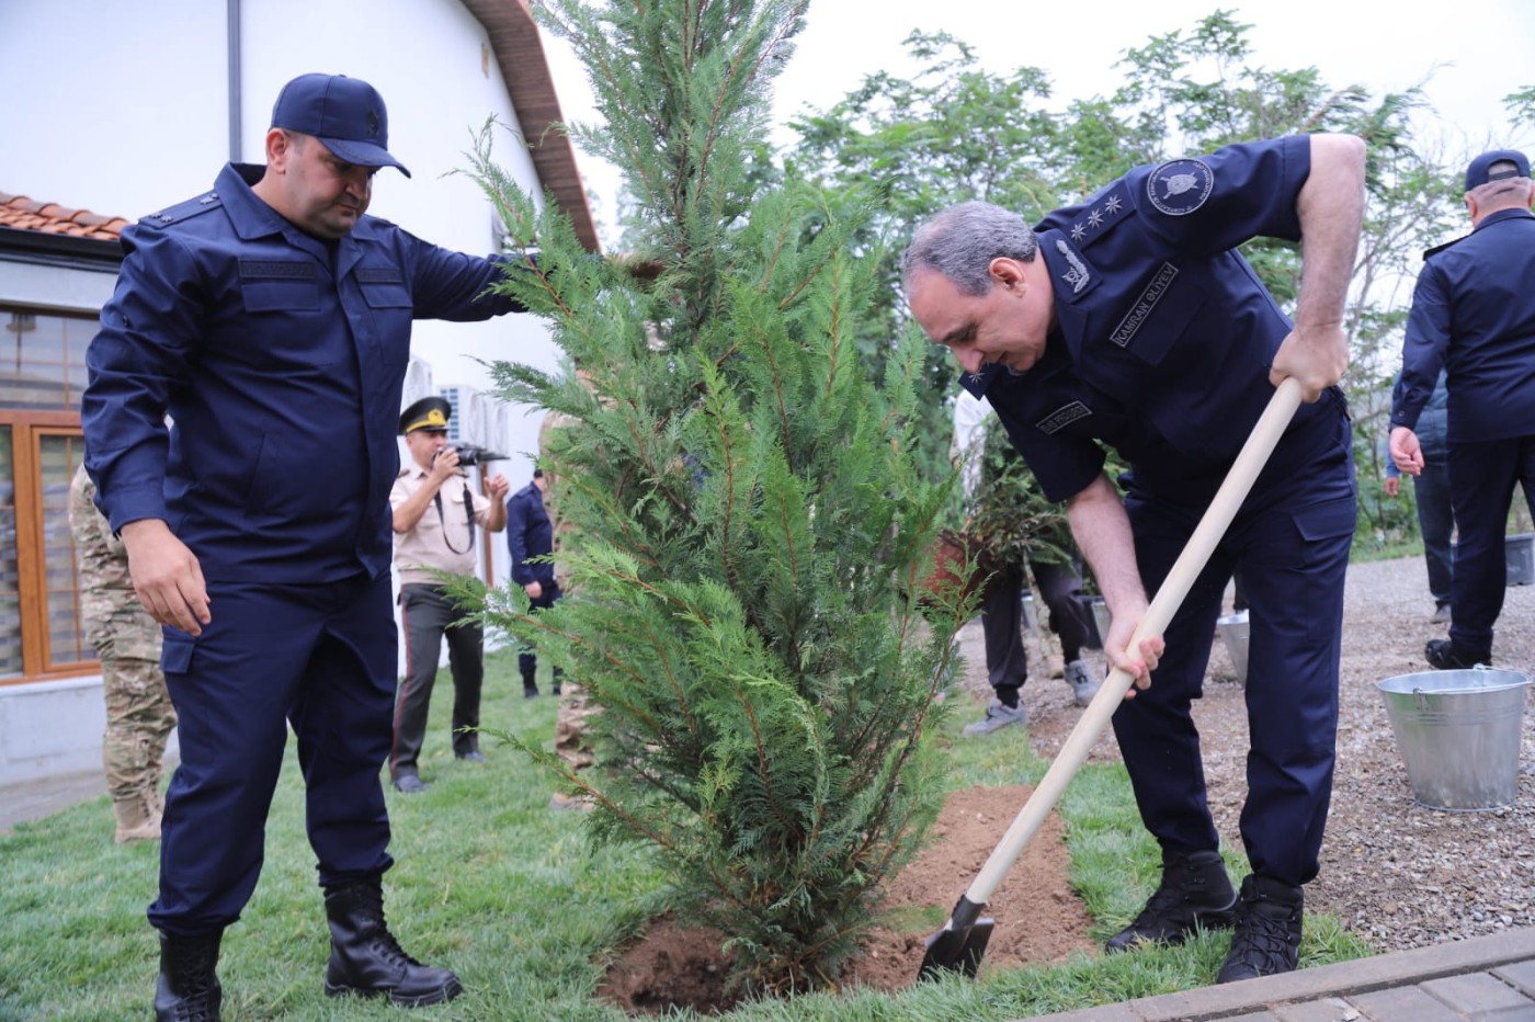
[{"label": "bare brown soil dug up around the evergreen tree's base", "polygon": [[[1028,790],[1015,784],[950,795],[927,847],[892,881],[886,907],[938,908],[947,915],[1013,823]],[[1051,813],[1024,849],[992,896],[989,915],[996,916],[996,928],[982,970],[1044,965],[1093,950],[1091,919],[1068,882],[1059,816]],[[923,964],[924,938],[938,925],[875,928],[843,984],[886,991],[909,987]],[[703,1013],[729,1010],[734,1007],[725,993],[729,959],[720,951],[721,944],[718,931],[686,930],[660,919],[620,951],[597,994],[635,1014],[663,1014],[675,1007]]]}]

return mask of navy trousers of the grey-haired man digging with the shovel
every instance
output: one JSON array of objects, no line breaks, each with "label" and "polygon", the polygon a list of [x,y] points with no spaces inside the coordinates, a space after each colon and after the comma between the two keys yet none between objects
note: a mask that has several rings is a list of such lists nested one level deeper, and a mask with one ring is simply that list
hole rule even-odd
[{"label": "navy trousers of the grey-haired man digging with the shovel", "polygon": [[[1164,634],[1151,687],[1114,712],[1141,818],[1165,850],[1219,847],[1191,703],[1203,691],[1226,582],[1242,571],[1251,632],[1251,746],[1240,830],[1256,873],[1300,885],[1320,869],[1337,738],[1343,577],[1354,536],[1349,424],[1326,463],[1243,505]],[[1125,497],[1147,594],[1171,571],[1203,508]]]}]

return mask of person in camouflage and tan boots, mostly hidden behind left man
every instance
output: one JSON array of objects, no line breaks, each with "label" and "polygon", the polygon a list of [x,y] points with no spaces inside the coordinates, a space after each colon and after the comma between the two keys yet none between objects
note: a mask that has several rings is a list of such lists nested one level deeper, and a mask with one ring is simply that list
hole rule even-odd
[{"label": "person in camouflage and tan boots, mostly hidden behind left man", "polygon": [[101,761],[117,813],[117,842],[160,839],[160,772],[177,712],[160,672],[160,625],[127,574],[127,551],[95,508],[84,465],[69,483],[69,531],[80,559],[86,638],[101,658],[106,735]]}]

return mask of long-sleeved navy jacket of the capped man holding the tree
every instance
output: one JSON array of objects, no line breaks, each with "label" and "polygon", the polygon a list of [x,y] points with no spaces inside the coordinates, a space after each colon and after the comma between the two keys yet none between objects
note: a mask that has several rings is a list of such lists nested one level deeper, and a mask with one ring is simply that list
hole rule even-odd
[{"label": "long-sleeved navy jacket of the capped man holding the tree", "polygon": [[376,579],[411,319],[522,307],[482,295],[496,262],[388,221],[305,235],[250,190],[261,173],[229,164],[123,232],[86,351],[86,463],[114,529],[164,519],[209,579]]}]

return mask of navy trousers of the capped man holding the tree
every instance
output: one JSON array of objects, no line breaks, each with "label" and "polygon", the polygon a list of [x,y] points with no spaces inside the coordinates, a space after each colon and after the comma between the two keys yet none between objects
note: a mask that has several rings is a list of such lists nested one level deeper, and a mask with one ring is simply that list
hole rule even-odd
[{"label": "navy trousers of the capped man holding the tree", "polygon": [[181,766],[166,793],[149,921],[178,936],[227,927],[250,899],[289,724],[321,885],[393,864],[379,778],[398,655],[390,575],[207,589],[203,635],[164,629]]}]

